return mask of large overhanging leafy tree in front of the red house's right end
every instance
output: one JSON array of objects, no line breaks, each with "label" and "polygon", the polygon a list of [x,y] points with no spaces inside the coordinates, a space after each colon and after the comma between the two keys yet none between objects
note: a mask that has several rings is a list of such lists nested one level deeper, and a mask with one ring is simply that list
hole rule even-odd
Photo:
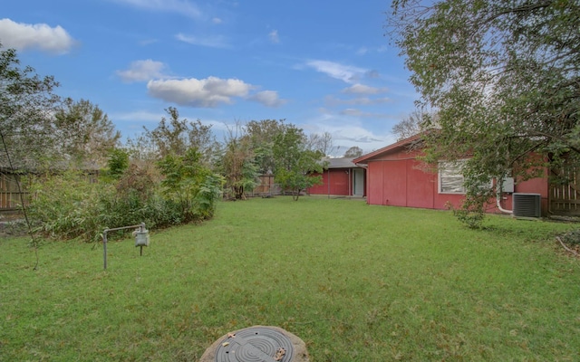
[{"label": "large overhanging leafy tree in front of the red house's right end", "polygon": [[579,2],[397,0],[392,10],[391,34],[420,104],[438,111],[426,159],[469,156],[468,198],[480,196],[473,205],[490,192],[483,178],[578,166]]}]

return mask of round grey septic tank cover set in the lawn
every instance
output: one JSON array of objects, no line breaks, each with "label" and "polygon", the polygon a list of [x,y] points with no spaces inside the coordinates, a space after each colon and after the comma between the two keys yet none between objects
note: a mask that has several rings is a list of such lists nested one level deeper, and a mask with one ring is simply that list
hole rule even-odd
[{"label": "round grey septic tank cover set in the lawn", "polygon": [[284,329],[256,326],[227,333],[208,348],[200,361],[308,361],[308,353],[303,346],[304,342],[300,338]]}]

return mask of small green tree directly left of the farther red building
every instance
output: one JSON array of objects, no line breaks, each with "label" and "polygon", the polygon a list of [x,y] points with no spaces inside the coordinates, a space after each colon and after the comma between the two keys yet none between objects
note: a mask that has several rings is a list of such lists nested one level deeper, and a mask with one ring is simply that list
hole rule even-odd
[{"label": "small green tree directly left of the farther red building", "polygon": [[324,164],[320,162],[324,154],[305,147],[306,137],[302,129],[289,125],[278,133],[274,140],[275,182],[283,189],[292,191],[298,200],[300,193],[308,187],[322,184]]}]

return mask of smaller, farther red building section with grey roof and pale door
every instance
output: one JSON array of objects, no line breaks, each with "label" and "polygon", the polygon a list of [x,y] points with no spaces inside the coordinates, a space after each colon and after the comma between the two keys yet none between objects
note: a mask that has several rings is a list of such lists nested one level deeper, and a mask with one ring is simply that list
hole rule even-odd
[{"label": "smaller, farther red building section with grey roof and pale door", "polygon": [[362,197],[366,195],[365,170],[353,163],[353,158],[325,158],[321,174],[323,185],[306,190],[309,195]]}]

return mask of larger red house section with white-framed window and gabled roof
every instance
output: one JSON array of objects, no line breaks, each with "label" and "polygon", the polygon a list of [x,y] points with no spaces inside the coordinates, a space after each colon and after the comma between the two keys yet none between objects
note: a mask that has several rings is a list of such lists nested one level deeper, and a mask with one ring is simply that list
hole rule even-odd
[{"label": "larger red house section with white-framed window and gabled roof", "polygon": [[[421,154],[420,147],[417,147],[419,142],[420,135],[416,135],[353,159],[354,164],[367,171],[367,204],[428,209],[461,205],[465,190],[459,167],[445,162],[437,166],[421,162],[418,159]],[[513,179],[511,183],[507,179],[505,186],[498,202],[490,200],[488,212],[513,210],[513,198],[517,194],[519,200],[524,200],[524,195],[533,195],[542,215],[554,213],[554,203],[550,204],[549,196],[553,188],[548,185],[547,171],[546,177],[533,178],[517,185],[514,185]]]}]

